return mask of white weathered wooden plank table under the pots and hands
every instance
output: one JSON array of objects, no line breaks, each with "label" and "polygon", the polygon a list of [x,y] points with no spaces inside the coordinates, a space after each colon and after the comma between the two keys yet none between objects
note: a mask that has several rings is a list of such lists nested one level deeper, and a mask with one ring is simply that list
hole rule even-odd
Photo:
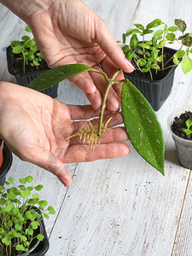
[{"label": "white weathered wooden plank table under the pots and hands", "polygon": [[[185,20],[192,31],[191,0],[84,0],[108,23],[115,39],[133,23],[156,18],[172,25]],[[25,23],[0,5],[0,80],[15,82],[8,73],[5,48],[20,39]],[[88,103],[84,93],[68,81],[59,86],[61,102]],[[163,177],[131,147],[131,154],[115,160],[68,165],[73,176],[66,189],[49,172],[14,156],[12,177],[32,174],[42,183],[42,199],[55,207],[46,220],[50,248],[47,256],[192,255],[192,178],[181,167],[166,119],[174,108],[192,102],[192,75],[177,67],[172,94],[158,111],[166,141]]]}]

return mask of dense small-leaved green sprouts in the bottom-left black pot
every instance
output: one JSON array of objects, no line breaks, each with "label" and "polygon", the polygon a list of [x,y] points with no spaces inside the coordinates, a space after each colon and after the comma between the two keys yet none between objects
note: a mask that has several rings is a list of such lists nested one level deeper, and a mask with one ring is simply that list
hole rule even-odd
[{"label": "dense small-leaved green sprouts in the bottom-left black pot", "polygon": [[19,255],[29,250],[33,239],[44,240],[42,234],[33,236],[34,230],[38,229],[42,218],[49,218],[55,210],[46,207],[47,201],[40,201],[38,193],[31,195],[32,190],[41,189],[42,185],[33,186],[32,176],[20,178],[18,186],[15,186],[14,178],[9,177],[5,186],[0,186],[0,255],[4,256],[5,251],[6,255],[12,255],[11,248],[14,247]]}]

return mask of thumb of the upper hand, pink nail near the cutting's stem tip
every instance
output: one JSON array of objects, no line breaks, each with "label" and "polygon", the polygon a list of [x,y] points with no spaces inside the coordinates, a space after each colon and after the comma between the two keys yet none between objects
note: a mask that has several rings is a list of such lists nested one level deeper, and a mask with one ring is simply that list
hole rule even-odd
[{"label": "thumb of the upper hand, pink nail near the cutting's stem tip", "polygon": [[96,20],[96,44],[98,44],[114,65],[127,73],[135,70],[135,67],[125,58],[119,44],[113,38],[108,25],[100,18]]}]

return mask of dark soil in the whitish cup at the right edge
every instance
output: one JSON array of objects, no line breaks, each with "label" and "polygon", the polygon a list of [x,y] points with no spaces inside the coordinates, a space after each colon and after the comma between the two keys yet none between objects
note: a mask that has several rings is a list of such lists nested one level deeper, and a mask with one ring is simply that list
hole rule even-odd
[{"label": "dark soil in the whitish cup at the right edge", "polygon": [[186,133],[182,130],[183,128],[187,129],[185,122],[188,119],[192,120],[192,113],[190,111],[186,111],[185,113],[182,113],[179,117],[175,117],[171,129],[178,137],[192,140],[192,134],[186,135]]}]

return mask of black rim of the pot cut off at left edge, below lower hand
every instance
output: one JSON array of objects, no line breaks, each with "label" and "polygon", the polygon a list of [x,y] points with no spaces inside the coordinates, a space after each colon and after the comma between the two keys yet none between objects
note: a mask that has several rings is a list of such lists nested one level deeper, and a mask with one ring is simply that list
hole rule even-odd
[{"label": "black rim of the pot cut off at left edge, below lower hand", "polygon": [[4,143],[3,145],[3,165],[0,167],[0,185],[4,185],[5,178],[12,165],[13,155],[9,148]]}]

